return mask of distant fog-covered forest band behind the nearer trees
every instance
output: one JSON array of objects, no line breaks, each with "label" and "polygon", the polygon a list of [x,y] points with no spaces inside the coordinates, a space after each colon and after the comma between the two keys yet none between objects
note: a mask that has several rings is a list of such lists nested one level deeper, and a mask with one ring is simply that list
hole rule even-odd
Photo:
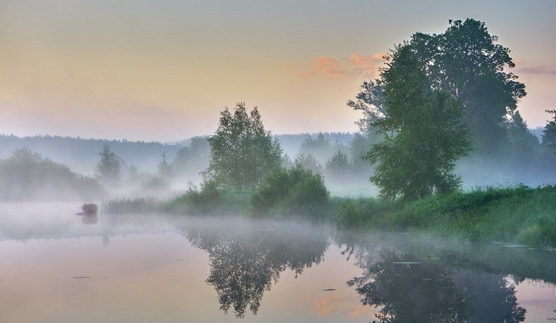
[{"label": "distant fog-covered forest band behind the nearer trees", "polygon": [[[491,159],[473,154],[458,161],[456,172],[462,176],[464,189],[520,183],[537,186],[554,182],[556,173],[550,165],[553,165],[556,156],[551,149],[552,141],[544,138],[547,133],[544,131],[546,128],[528,130],[531,137],[539,139],[540,135],[541,140],[533,140],[534,148],[524,150],[526,156],[521,152],[509,159]],[[377,188],[369,182],[375,168],[369,161],[363,160],[363,156],[372,144],[382,141],[379,134],[319,132],[272,137],[279,141],[282,149],[282,166],[291,168],[294,163],[299,163],[309,171],[321,174],[333,195],[377,194]],[[15,195],[21,195],[20,198],[56,198],[67,195],[67,192],[79,193],[85,200],[95,200],[95,196],[98,198],[104,194],[103,189],[110,187],[103,181],[97,182],[101,178],[98,170],[95,171],[106,146],[128,167],[128,175],[121,178],[123,186],[120,188],[127,187],[129,192],[135,190],[143,194],[183,191],[203,182],[202,173],[207,170],[211,159],[207,139],[193,137],[174,143],[160,143],[2,134],[0,182],[5,187],[0,190],[0,200],[13,199]],[[66,178],[65,182],[60,182],[62,178]],[[62,190],[66,193],[56,195],[45,193],[51,191],[49,189],[33,189],[35,186],[51,187],[51,182],[58,183],[55,184],[58,188],[67,186]]]}]

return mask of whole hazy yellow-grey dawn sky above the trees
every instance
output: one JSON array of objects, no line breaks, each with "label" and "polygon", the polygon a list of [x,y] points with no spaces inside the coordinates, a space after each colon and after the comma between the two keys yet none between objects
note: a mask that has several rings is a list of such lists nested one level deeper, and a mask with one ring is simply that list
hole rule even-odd
[{"label": "whole hazy yellow-grey dawn sky above the trees", "polygon": [[177,141],[258,107],[272,134],[356,132],[382,55],[448,19],[511,50],[530,128],[556,109],[555,0],[0,0],[0,134]]}]

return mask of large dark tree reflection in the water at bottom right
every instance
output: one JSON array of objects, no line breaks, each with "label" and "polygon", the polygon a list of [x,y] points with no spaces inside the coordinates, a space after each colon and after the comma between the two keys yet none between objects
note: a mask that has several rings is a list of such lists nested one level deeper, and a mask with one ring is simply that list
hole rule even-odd
[{"label": "large dark tree reflection in the water at bottom right", "polygon": [[[356,286],[365,305],[383,306],[379,322],[523,322],[514,286],[503,277],[454,272],[432,259],[416,259],[392,249],[379,259],[359,258],[363,276]],[[493,279],[494,278],[494,279]]]}]

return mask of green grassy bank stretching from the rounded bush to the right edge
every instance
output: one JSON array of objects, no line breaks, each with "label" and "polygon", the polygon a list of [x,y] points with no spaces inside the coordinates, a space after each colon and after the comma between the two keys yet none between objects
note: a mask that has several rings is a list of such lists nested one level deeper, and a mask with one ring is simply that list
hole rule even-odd
[{"label": "green grassy bank stretching from the rounded bush to the right edge", "polygon": [[516,241],[556,246],[556,186],[476,189],[408,204],[348,200],[336,220],[343,227],[419,231],[471,241]]}]

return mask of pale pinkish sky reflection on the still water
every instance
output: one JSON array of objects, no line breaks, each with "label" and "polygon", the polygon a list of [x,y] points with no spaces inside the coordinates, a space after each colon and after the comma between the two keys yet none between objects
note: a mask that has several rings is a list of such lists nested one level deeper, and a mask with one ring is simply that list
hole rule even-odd
[{"label": "pale pinkish sky reflection on the still water", "polygon": [[[363,306],[354,287],[346,286],[361,276],[354,264],[374,250],[375,241],[360,244],[346,261],[347,254],[341,254],[346,245],[338,247],[332,238],[325,261],[298,275],[286,265],[277,283],[263,292],[257,314],[247,309],[244,319],[236,319],[232,310],[227,315],[220,311],[215,286],[206,282],[211,274],[206,250],[222,247],[221,241],[208,238],[224,231],[207,229],[197,236],[197,247],[188,240],[188,232],[202,227],[203,218],[100,214],[97,222],[87,224],[74,215],[79,209],[72,204],[9,204],[2,210],[0,322],[370,322],[380,309]],[[318,236],[311,228],[288,230],[272,222],[208,222],[224,222],[227,232],[239,232],[242,238],[230,238],[239,245],[264,244],[266,237],[279,237],[284,230],[290,239]],[[265,250],[287,253],[280,244],[292,241],[268,238],[266,243]],[[370,261],[376,258],[371,252]],[[539,289],[525,280],[516,284],[516,296],[528,310],[525,322],[556,315],[553,285]]]}]

